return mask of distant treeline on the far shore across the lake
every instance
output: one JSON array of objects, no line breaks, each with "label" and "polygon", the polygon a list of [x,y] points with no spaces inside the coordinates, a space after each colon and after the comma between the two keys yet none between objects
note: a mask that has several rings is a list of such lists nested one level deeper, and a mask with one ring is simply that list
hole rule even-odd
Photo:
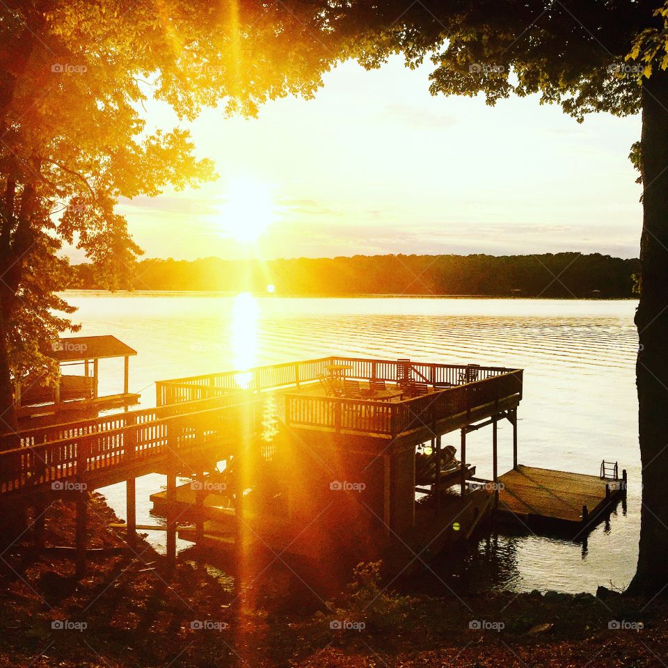
[{"label": "distant treeline on the far shore across the lake", "polygon": [[[104,289],[91,264],[70,287]],[[543,255],[354,255],[292,260],[142,260],[123,288],[264,292],[283,295],[486,295],[632,297],[639,260],[593,253]],[[130,278],[131,273],[134,276]]]}]

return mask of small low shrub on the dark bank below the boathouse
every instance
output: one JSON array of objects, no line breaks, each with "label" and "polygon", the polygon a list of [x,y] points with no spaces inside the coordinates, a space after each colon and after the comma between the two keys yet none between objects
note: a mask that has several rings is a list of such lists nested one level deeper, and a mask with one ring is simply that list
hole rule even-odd
[{"label": "small low shrub on the dark bank below the boathouse", "polygon": [[382,562],[358,564],[353,581],[332,619],[363,622],[367,628],[398,630],[413,612],[416,599],[388,591],[381,584]]}]

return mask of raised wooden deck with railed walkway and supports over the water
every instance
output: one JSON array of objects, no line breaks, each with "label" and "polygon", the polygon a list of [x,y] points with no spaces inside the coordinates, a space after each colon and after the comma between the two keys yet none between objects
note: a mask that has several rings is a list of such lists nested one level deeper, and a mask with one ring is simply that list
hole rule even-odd
[{"label": "raised wooden deck with railed walkway and supports over the water", "polygon": [[[428,391],[392,401],[325,397],[319,379],[332,364],[348,367],[347,378],[360,381],[362,387],[369,381],[385,381],[391,388],[408,380],[415,381],[413,388]],[[261,536],[261,541],[275,541],[281,549],[287,543],[291,551],[310,554],[316,549],[318,555],[324,555],[341,549],[340,534],[331,527],[347,521],[342,518],[361,518],[364,524],[356,526],[360,539],[353,541],[351,550],[364,555],[373,552],[375,558],[378,546],[392,535],[399,536],[399,542],[409,539],[413,550],[424,543],[438,549],[469,534],[486,509],[487,497],[477,505],[465,500],[465,507],[454,512],[454,516],[461,513],[456,528],[447,524],[450,520],[444,509],[433,522],[418,523],[424,532],[415,531],[415,447],[426,440],[440,443],[441,434],[486,418],[491,419],[484,424],[495,425],[506,418],[516,424],[522,389],[522,369],[340,357],[158,381],[156,408],[49,424],[3,436],[0,502],[29,502],[43,517],[40,509],[52,498],[73,498],[77,503],[80,573],[85,563],[88,493],[127,482],[127,535],[132,544],[136,540],[134,481],[149,472],[164,472],[168,481],[166,551],[173,565],[177,532],[173,510],[179,497],[186,505],[194,500],[191,490],[176,491],[177,476],[200,479],[222,460],[231,461],[233,469],[238,465],[234,470],[244,470],[253,463],[271,472],[271,479],[258,477],[257,489],[273,490],[278,481],[280,493],[250,495],[239,503],[239,516],[230,507],[231,500],[218,507],[209,500],[196,513],[198,534],[206,518],[223,525],[223,534],[228,525],[237,531],[246,528]],[[295,482],[296,475],[288,484],[289,465],[281,468],[287,462],[299,469],[297,459],[289,456],[293,447],[310,454],[317,451],[315,461],[325,463],[324,468],[312,467],[305,460],[299,471],[304,481],[301,485]],[[466,463],[463,453],[462,461]],[[333,478],[335,482],[364,482],[365,502],[347,494],[329,502]],[[311,525],[310,518],[319,517],[321,502],[327,512]],[[315,515],[310,514],[314,510]],[[290,518],[287,523],[286,517]],[[325,520],[329,529],[320,527]],[[308,531],[301,532],[304,523]],[[42,529],[35,530],[38,543],[40,534]],[[452,535],[447,538],[445,534]]]}]

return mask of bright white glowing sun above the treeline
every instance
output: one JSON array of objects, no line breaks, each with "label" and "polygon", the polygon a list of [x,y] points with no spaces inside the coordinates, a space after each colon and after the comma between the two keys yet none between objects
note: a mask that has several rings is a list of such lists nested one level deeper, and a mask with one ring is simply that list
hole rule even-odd
[{"label": "bright white glowing sun above the treeline", "polygon": [[230,181],[227,201],[220,210],[221,228],[243,244],[260,239],[276,219],[271,186],[249,178]]}]

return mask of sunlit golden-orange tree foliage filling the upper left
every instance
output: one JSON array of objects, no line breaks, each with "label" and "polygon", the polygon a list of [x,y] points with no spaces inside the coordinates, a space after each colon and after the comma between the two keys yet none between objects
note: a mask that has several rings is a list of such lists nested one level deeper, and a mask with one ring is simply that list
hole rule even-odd
[{"label": "sunlit golden-orange tree foliage filling the upper left", "polygon": [[[154,197],[166,186],[215,177],[188,132],[155,127],[145,105],[166,103],[182,120],[202,106],[253,114],[271,97],[308,97],[329,67],[326,47],[309,37],[314,21],[261,2],[4,6],[0,343],[15,376],[30,369],[48,376],[52,340],[77,328],[55,294],[72,283],[63,251],[86,255],[100,287],[130,287],[141,250],[114,211],[119,198]],[[292,58],[294,45],[303,47],[300,58]],[[10,390],[8,374],[0,375],[2,412]]]}]

